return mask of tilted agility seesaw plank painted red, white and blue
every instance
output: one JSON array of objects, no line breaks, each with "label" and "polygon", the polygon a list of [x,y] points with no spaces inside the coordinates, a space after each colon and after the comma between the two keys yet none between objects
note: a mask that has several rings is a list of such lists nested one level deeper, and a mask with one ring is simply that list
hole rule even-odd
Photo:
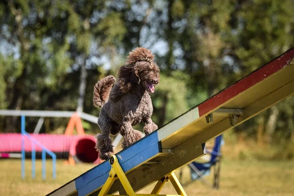
[{"label": "tilted agility seesaw plank painted red, white and blue", "polygon": [[[294,49],[290,49],[117,153],[134,191],[143,189],[205,154],[203,143],[293,95],[293,59]],[[49,195],[97,196],[110,168],[109,162],[104,161]],[[108,194],[118,191],[125,193],[119,180],[114,182]]]}]

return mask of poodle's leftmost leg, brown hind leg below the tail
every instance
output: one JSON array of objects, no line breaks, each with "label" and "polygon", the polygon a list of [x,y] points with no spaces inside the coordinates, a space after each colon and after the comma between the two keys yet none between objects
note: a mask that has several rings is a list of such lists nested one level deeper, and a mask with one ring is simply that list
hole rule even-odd
[{"label": "poodle's leftmost leg, brown hind leg below the tail", "polygon": [[99,158],[102,160],[108,159],[114,153],[112,139],[109,137],[111,125],[111,119],[106,116],[102,109],[98,118],[98,126],[101,134],[96,135],[96,148],[99,153]]}]

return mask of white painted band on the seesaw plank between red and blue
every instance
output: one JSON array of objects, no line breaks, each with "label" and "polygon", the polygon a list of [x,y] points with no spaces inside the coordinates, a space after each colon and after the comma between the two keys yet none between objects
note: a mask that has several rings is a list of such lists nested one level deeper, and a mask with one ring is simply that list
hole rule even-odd
[{"label": "white painted band on the seesaw plank between red and blue", "polygon": [[183,129],[185,126],[189,125],[190,123],[194,122],[196,119],[199,118],[199,110],[198,107],[194,108],[187,114],[179,117],[172,123],[167,124],[166,126],[162,127],[158,132],[158,140],[164,141],[171,137],[176,132]]}]

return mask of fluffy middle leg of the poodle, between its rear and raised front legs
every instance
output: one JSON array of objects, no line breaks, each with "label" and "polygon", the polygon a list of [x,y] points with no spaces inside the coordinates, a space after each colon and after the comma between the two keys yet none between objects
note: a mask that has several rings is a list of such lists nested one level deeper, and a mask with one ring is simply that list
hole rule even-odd
[{"label": "fluffy middle leg of the poodle, between its rear and raised front legs", "polygon": [[140,131],[133,129],[130,121],[124,121],[122,124],[123,127],[121,128],[120,133],[123,136],[123,149],[143,138],[143,134]]}]

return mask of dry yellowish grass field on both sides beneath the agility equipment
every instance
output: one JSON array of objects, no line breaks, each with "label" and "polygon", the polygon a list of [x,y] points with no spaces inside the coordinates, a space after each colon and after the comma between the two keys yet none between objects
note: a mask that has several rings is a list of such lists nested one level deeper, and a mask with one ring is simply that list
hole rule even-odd
[{"label": "dry yellowish grass field on both sides beneath the agility equipment", "polygon": [[[41,161],[36,163],[36,179],[31,178],[31,163],[26,161],[25,180],[21,178],[20,160],[0,160],[0,196],[43,196],[72,180],[81,173],[94,167],[89,164],[76,166],[57,162],[57,179],[47,161],[47,178],[42,180]],[[184,173],[188,177],[189,170]],[[211,176],[207,176],[210,180]],[[220,190],[211,190],[199,181],[185,187],[188,196],[293,196],[293,161],[241,161],[224,159],[221,163]],[[153,185],[140,191],[149,193]],[[176,194],[172,185],[167,183],[161,194]]]}]

